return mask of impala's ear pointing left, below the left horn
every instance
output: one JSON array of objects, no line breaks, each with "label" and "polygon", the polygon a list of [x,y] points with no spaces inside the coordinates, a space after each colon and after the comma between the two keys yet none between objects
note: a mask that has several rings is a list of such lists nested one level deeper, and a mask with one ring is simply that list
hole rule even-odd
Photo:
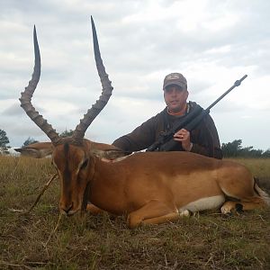
[{"label": "impala's ear pointing left, below the left horn", "polygon": [[52,154],[53,145],[51,142],[36,142],[24,148],[15,148],[14,150],[20,152],[22,156],[41,158]]}]

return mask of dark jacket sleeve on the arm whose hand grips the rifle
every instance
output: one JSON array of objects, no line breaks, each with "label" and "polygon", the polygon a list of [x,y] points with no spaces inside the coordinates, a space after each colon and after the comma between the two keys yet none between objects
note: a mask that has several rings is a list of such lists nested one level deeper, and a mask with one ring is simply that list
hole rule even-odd
[{"label": "dark jacket sleeve on the arm whose hand grips the rifle", "polygon": [[193,153],[207,157],[222,158],[218,131],[210,115],[192,132]]}]

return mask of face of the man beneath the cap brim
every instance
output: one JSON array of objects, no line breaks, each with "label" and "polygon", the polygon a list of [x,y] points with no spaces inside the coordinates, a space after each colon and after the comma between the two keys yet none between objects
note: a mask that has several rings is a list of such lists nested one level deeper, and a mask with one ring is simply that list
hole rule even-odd
[{"label": "face of the man beneath the cap brim", "polygon": [[187,89],[178,85],[168,85],[164,90],[164,100],[169,112],[177,113],[183,111],[187,97]]}]

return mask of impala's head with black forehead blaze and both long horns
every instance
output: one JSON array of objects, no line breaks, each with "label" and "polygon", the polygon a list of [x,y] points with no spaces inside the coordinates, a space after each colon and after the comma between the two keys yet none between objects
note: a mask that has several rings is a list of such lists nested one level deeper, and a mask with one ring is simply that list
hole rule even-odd
[{"label": "impala's head with black forehead blaze and both long horns", "polygon": [[[61,138],[57,131],[46,121],[31,104],[31,97],[40,80],[40,49],[37,40],[36,29],[33,30],[33,43],[35,64],[29,85],[25,87],[20,98],[21,106],[27,115],[34,121],[51,141],[52,164],[56,167],[61,183],[61,194],[59,208],[66,214],[73,214],[85,208],[88,193],[88,179],[94,174],[94,151],[93,142],[84,139],[85,131],[94,118],[103,110],[112,95],[112,85],[105,72],[103,61],[100,55],[98,40],[91,17],[94,58],[100,76],[103,91],[99,99],[86,112],[84,118],[76,126],[73,135],[68,138]],[[83,202],[84,201],[84,202]]]}]

